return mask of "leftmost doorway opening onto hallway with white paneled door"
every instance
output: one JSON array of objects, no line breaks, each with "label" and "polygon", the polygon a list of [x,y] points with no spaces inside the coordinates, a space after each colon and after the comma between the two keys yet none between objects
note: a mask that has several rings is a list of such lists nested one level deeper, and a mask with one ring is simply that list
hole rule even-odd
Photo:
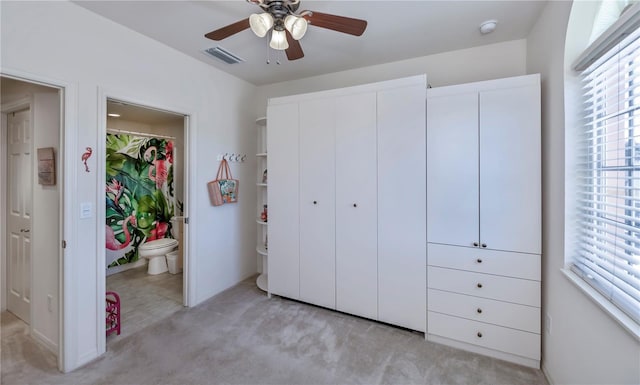
[{"label": "leftmost doorway opening onto hallway with white paneled door", "polygon": [[5,76],[0,90],[0,307],[58,355],[62,90]]}]

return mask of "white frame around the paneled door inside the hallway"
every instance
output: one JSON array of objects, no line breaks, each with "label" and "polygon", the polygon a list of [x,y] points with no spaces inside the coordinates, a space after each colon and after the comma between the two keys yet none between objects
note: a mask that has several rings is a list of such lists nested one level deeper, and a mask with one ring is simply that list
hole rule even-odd
[{"label": "white frame around the paneled door inside the hallway", "polygon": [[[8,261],[7,261],[7,234],[6,234],[6,230],[7,230],[7,199],[6,199],[6,195],[4,195],[4,193],[6,193],[7,191],[7,183],[8,183],[8,179],[9,176],[7,175],[7,155],[8,155],[8,147],[7,147],[7,135],[8,135],[8,125],[7,125],[7,118],[9,116],[10,113],[12,112],[17,112],[17,111],[22,111],[25,109],[29,109],[29,129],[31,130],[31,138],[33,139],[34,136],[34,127],[33,127],[33,100],[31,97],[27,96],[27,97],[23,97],[20,98],[18,100],[15,100],[13,102],[9,102],[9,103],[5,103],[0,105],[0,115],[1,115],[1,119],[2,119],[2,127],[0,129],[0,137],[2,138],[1,140],[1,144],[0,144],[0,156],[2,156],[2,159],[0,160],[0,165],[2,165],[0,167],[0,186],[5,186],[5,188],[3,189],[3,199],[2,202],[0,203],[0,215],[2,215],[2,218],[0,218],[0,245],[2,245],[0,252],[2,252],[2,298],[0,299],[0,303],[2,303],[1,306],[1,310],[8,310],[9,309],[9,297],[7,296],[7,291],[8,291],[8,287],[7,284],[9,283],[9,276],[8,276]],[[34,156],[34,146],[32,143],[31,146],[31,161],[33,162],[33,156]],[[32,165],[33,166],[33,163]],[[33,195],[33,175],[31,175],[31,183],[29,185],[29,188],[32,190],[32,194]],[[31,212],[31,220],[33,221],[33,202],[31,202],[31,208],[29,209],[29,211]],[[31,238],[31,244],[33,244],[33,238],[34,238],[34,233],[31,233],[30,238]],[[33,263],[29,263],[29,287],[31,288],[33,285]],[[33,293],[33,290],[31,290],[31,293]],[[31,298],[29,299],[29,318],[31,318],[31,315],[33,314],[33,301],[31,300]],[[33,335],[33,322],[29,322],[29,334]],[[51,347],[50,347],[51,348]]]}]

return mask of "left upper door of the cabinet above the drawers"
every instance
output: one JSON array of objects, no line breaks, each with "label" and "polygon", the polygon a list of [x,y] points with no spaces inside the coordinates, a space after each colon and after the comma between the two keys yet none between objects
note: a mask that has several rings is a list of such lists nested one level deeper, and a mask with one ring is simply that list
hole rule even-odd
[{"label": "left upper door of the cabinet above the drawers", "polygon": [[427,239],[479,242],[478,93],[427,99]]}]

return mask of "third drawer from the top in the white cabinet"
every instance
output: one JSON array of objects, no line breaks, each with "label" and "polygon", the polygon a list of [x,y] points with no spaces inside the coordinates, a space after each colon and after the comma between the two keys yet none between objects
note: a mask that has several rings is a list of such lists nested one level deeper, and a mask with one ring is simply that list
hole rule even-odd
[{"label": "third drawer from the top in the white cabinet", "polygon": [[540,308],[492,299],[429,290],[429,311],[540,333]]}]

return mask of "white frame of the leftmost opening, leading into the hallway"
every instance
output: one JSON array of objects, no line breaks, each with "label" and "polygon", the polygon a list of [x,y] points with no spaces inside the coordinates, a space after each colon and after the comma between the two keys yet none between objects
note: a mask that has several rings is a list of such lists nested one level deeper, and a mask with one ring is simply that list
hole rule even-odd
[{"label": "white frame of the leftmost opening, leading into the hallway", "polygon": [[[58,159],[59,166],[58,181],[60,186],[59,195],[59,235],[60,248],[58,252],[58,347],[57,347],[57,363],[58,369],[62,372],[68,372],[73,369],[75,362],[77,361],[77,352],[73,349],[66,349],[77,345],[75,343],[76,336],[74,334],[75,324],[73,322],[65,322],[65,320],[73,320],[73,314],[75,314],[73,290],[70,290],[70,286],[73,280],[74,266],[72,264],[72,258],[70,256],[76,255],[76,227],[73,218],[73,207],[76,202],[77,181],[75,168],[73,164],[71,149],[76,147],[78,137],[78,85],[61,79],[55,79],[51,77],[36,75],[33,73],[17,70],[14,68],[2,67],[0,68],[0,76],[19,80],[27,83],[38,84],[45,87],[55,88],[58,90],[58,97],[60,99],[60,122],[59,122],[59,143],[58,143]],[[2,182],[6,183],[6,171],[5,162],[6,158],[6,144],[0,146],[0,175],[2,175]],[[0,206],[0,216],[6,217],[5,203]],[[3,219],[4,221],[4,219]],[[2,239],[4,242],[5,224],[2,227]],[[6,253],[5,253],[6,254]],[[3,266],[3,271],[5,266]],[[33,278],[33,277],[32,277]],[[66,279],[65,279],[66,278]],[[5,284],[4,277],[2,277],[2,284]],[[4,302],[3,302],[4,303]],[[33,306],[33,302],[32,302]],[[33,314],[33,311],[32,311]],[[31,325],[30,325],[31,328]]]}]

